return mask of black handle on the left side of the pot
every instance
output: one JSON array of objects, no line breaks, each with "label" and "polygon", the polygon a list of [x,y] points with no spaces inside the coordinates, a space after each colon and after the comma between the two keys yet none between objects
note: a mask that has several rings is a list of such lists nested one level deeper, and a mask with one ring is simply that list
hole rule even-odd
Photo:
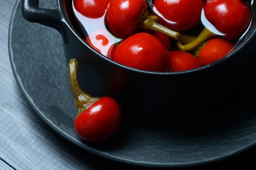
[{"label": "black handle on the left side of the pot", "polygon": [[45,26],[59,30],[62,24],[62,14],[60,9],[60,0],[57,0],[57,9],[39,8],[38,0],[22,0],[22,15],[33,23],[41,23]]}]

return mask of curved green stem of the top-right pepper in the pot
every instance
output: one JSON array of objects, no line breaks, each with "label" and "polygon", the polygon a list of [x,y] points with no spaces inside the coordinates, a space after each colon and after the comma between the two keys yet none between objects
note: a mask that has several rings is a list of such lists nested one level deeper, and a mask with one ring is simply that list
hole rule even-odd
[{"label": "curved green stem of the top-right pepper in the pot", "polygon": [[192,42],[189,42],[186,45],[182,45],[181,41],[177,41],[177,47],[182,51],[189,51],[201,45],[201,43],[208,38],[215,36],[216,34],[212,33],[207,28],[204,28],[204,30],[198,35],[198,37],[196,37]]}]

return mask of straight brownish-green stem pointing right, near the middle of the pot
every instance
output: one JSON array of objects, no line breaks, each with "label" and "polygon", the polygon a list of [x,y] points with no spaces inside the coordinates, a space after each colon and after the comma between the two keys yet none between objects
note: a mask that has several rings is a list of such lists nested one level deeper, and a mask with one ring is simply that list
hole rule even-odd
[{"label": "straight brownish-green stem pointing right, near the middle of the pot", "polygon": [[[153,17],[153,19],[154,19],[154,17]],[[159,23],[156,23],[153,19],[152,19],[152,17],[147,17],[145,19],[145,21],[143,22],[143,24],[141,25],[141,27],[161,32],[163,34],[168,35],[169,37],[171,37],[174,40],[178,39],[178,36],[179,36],[178,32],[173,31],[165,26],[162,26]]]}]

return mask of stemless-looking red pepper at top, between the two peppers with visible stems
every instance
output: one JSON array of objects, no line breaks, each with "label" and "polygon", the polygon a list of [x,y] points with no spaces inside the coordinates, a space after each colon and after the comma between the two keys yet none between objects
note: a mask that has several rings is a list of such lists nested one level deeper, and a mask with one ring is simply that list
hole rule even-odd
[{"label": "stemless-looking red pepper at top, between the two peppers with visible stems", "polygon": [[160,19],[160,24],[174,31],[184,31],[198,25],[201,20],[204,1],[154,0],[154,6],[165,18],[160,17],[153,8],[153,13]]}]

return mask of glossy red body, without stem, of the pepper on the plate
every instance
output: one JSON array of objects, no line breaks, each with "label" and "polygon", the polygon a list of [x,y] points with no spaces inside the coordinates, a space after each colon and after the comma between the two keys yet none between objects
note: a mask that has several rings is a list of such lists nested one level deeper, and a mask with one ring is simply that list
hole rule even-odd
[{"label": "glossy red body, without stem, of the pepper on the plate", "polygon": [[84,141],[99,142],[108,139],[118,130],[121,119],[121,109],[116,100],[102,97],[75,119],[74,127]]}]

